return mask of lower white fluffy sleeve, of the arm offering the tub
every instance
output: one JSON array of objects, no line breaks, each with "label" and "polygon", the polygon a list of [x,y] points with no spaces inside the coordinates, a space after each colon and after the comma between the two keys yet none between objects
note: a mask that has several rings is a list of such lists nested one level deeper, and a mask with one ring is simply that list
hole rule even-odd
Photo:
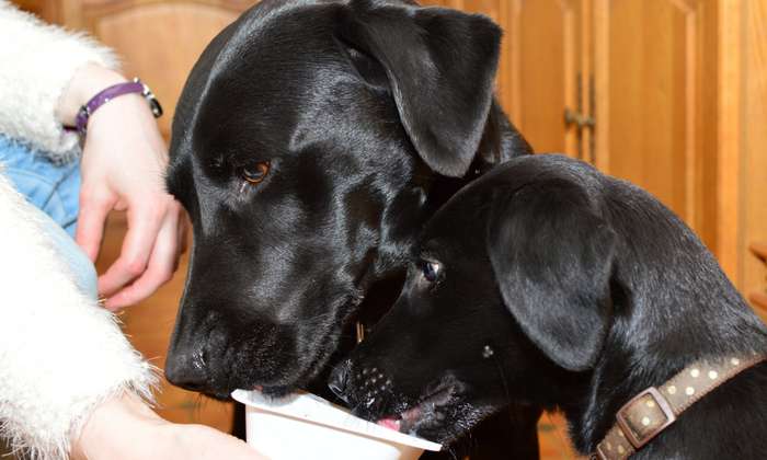
[{"label": "lower white fluffy sleeve, of the arm offering the tub", "polygon": [[98,403],[150,399],[156,377],[41,229],[0,169],[0,435],[35,459],[66,459]]}]

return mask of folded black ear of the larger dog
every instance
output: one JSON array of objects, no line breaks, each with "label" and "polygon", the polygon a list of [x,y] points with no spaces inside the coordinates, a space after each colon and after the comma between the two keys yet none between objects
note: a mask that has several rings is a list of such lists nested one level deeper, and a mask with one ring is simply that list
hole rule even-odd
[{"label": "folded black ear of the larger dog", "polygon": [[[499,26],[485,16],[444,8],[380,0],[352,0],[348,8],[343,39],[384,69],[421,158],[440,174],[463,175],[493,96]],[[370,73],[368,65],[359,67]]]}]

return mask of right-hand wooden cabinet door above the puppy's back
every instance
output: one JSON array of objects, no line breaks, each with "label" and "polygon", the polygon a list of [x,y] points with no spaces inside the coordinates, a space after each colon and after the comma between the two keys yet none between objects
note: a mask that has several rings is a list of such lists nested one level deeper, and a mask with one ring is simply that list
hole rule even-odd
[{"label": "right-hand wooden cabinet door above the puppy's back", "polygon": [[594,0],[595,163],[655,195],[709,248],[716,243],[716,3]]}]

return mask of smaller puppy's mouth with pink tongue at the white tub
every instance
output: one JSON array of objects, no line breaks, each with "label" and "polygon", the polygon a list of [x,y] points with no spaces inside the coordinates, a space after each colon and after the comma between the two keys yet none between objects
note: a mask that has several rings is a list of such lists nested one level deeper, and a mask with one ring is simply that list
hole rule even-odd
[{"label": "smaller puppy's mouth with pink tongue at the white tub", "polygon": [[380,418],[376,423],[396,432],[413,435],[424,424],[439,423],[444,418],[443,409],[453,404],[457,398],[456,384],[440,384],[399,414]]}]

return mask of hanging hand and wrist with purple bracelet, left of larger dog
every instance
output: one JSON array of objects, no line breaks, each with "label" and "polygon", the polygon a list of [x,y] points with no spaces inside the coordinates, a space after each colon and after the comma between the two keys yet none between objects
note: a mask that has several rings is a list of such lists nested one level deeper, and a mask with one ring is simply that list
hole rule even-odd
[{"label": "hanging hand and wrist with purple bracelet, left of larger dog", "polygon": [[[104,88],[125,81],[88,65],[76,72],[58,115],[73,124],[77,108]],[[126,94],[91,115],[81,159],[82,185],[76,240],[92,261],[99,256],[106,216],[127,211],[128,232],[119,257],[99,278],[106,307],[117,310],[157,290],[175,272],[184,250],[186,218],[165,192],[168,151],[149,105]]]}]

